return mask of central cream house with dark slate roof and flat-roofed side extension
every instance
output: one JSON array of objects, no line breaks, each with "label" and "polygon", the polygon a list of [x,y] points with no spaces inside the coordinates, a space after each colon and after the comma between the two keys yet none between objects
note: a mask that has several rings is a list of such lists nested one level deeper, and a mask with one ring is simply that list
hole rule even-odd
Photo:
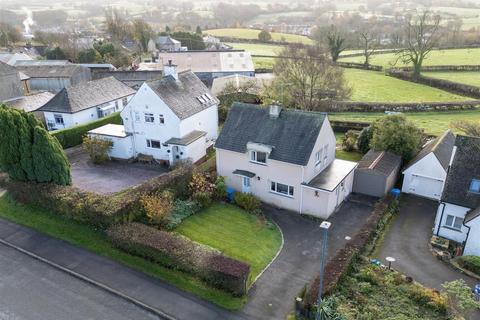
[{"label": "central cream house with dark slate roof and flat-roofed side extension", "polygon": [[215,143],[217,172],[236,191],[327,219],[350,194],[355,162],[335,159],[324,113],[234,103]]}]

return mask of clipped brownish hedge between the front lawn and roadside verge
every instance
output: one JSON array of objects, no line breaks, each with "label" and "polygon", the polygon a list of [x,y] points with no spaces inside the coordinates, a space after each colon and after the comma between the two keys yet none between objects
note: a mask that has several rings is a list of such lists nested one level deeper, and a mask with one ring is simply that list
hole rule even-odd
[{"label": "clipped brownish hedge between the front lawn and roadside verge", "polygon": [[250,266],[208,246],[135,222],[113,226],[107,235],[113,245],[130,254],[191,273],[234,295],[247,293]]}]

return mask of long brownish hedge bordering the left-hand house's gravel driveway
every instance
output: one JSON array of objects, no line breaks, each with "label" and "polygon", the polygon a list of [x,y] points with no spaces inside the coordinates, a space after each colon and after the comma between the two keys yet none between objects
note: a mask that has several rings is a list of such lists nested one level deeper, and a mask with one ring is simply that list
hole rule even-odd
[{"label": "long brownish hedge bordering the left-hand house's gravel driveway", "polygon": [[191,179],[190,166],[145,181],[113,195],[82,191],[72,186],[49,183],[9,181],[6,187],[14,199],[47,209],[96,228],[135,221],[143,216],[140,197],[157,190],[170,189],[177,197],[185,197]]}]

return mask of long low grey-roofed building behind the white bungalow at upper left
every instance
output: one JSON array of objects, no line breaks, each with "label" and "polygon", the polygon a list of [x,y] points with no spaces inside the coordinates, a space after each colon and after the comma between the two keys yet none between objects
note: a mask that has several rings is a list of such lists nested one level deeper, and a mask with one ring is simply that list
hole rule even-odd
[{"label": "long low grey-roofed building behind the white bungalow at upper left", "polygon": [[77,64],[20,64],[15,68],[29,77],[30,90],[59,92],[65,87],[90,81],[90,69]]}]

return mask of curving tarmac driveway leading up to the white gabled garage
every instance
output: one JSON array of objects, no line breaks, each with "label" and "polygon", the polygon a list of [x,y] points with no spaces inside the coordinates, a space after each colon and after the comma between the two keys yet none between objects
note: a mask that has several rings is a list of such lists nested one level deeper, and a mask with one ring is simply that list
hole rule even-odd
[{"label": "curving tarmac driveway leading up to the white gabled garage", "polygon": [[437,201],[402,195],[400,213],[385,236],[379,259],[385,263],[387,256],[394,257],[396,270],[430,288],[440,290],[442,283],[459,278],[474,286],[476,281],[455,271],[430,252],[437,207]]}]

